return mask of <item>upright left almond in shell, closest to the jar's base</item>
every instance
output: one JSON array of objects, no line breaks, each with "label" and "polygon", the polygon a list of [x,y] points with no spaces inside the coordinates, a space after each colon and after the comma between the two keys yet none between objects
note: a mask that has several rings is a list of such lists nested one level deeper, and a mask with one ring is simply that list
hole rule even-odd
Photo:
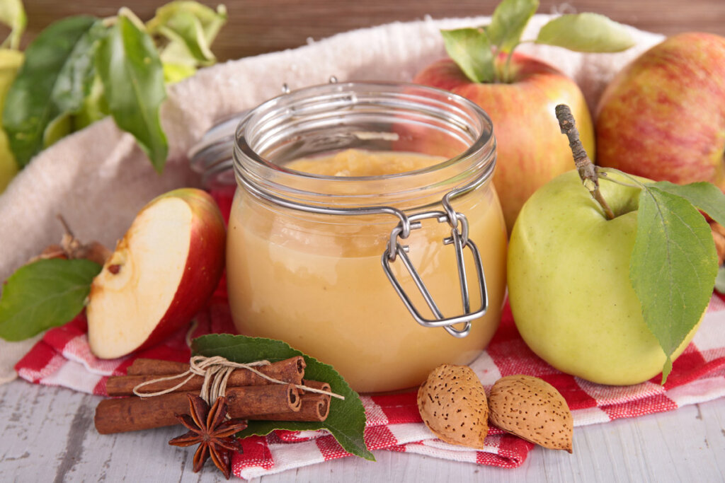
[{"label": "upright left almond in shell, closest to the jar's base", "polygon": [[440,440],[483,448],[489,432],[486,391],[468,366],[443,364],[418,390],[421,418]]}]

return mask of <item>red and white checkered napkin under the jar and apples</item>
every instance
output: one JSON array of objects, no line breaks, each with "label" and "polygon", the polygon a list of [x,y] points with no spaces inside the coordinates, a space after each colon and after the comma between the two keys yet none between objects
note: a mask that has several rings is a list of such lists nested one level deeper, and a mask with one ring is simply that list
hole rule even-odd
[{"label": "red and white checkered napkin under the jar and apples", "polygon": [[[221,288],[210,305],[196,316],[198,326],[194,337],[234,331],[223,286]],[[18,362],[18,374],[38,384],[106,395],[107,378],[125,374],[133,358],[188,361],[187,329],[181,329],[154,348],[109,361],[91,354],[86,332],[83,314],[63,327],[49,330]],[[658,384],[659,377],[639,385],[612,387],[562,374],[526,347],[513,324],[508,304],[489,347],[471,367],[487,389],[509,374],[531,374],[550,382],[566,398],[573,412],[574,426],[671,411],[712,400],[725,395],[725,297],[713,295],[695,339],[675,361],[664,387]],[[415,391],[363,395],[362,400],[368,416],[365,442],[370,450],[418,453],[513,468],[520,466],[533,448],[531,443],[493,427],[482,450],[437,440],[421,422]],[[323,431],[278,431],[267,437],[249,437],[242,445],[244,453],[234,456],[232,470],[233,474],[246,479],[349,456],[331,435]]]}]

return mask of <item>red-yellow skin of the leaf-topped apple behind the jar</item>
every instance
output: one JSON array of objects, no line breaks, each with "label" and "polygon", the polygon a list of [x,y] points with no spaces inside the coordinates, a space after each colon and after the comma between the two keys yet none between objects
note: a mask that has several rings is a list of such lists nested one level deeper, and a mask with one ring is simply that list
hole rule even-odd
[{"label": "red-yellow skin of the leaf-topped apple behind the jar", "polygon": [[554,107],[567,104],[587,153],[595,135],[587,102],[573,80],[544,62],[515,52],[513,83],[473,83],[452,59],[434,62],[413,79],[459,94],[489,114],[497,142],[494,185],[511,232],[523,203],[539,186],[572,167],[571,149],[561,135]]}]

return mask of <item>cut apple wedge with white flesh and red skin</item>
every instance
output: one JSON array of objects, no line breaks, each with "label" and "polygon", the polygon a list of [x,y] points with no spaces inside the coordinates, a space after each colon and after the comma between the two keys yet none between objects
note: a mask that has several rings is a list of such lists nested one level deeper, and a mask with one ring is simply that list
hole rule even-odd
[{"label": "cut apple wedge with white flesh and red skin", "polygon": [[91,352],[125,356],[188,324],[219,283],[225,232],[202,190],[173,190],[144,206],[91,285]]}]

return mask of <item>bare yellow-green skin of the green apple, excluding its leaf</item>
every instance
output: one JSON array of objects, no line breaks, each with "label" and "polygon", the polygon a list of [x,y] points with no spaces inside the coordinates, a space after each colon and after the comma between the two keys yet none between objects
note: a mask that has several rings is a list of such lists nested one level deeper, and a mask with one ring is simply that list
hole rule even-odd
[{"label": "bare yellow-green skin of the green apple, excluding its leaf", "polygon": [[632,385],[666,359],[629,281],[639,189],[607,180],[600,189],[616,218],[605,218],[576,171],[529,198],[510,238],[509,300],[521,337],[544,361],[591,382]]}]

